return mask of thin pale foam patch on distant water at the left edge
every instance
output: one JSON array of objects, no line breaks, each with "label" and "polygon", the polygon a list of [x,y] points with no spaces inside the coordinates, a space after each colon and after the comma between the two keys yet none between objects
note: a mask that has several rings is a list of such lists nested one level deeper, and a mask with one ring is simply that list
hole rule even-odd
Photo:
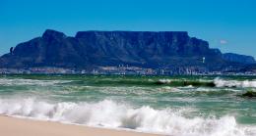
[{"label": "thin pale foam patch on distant water at the left edge", "polygon": [[3,86],[13,86],[13,85],[54,85],[57,83],[67,83],[71,82],[69,80],[36,80],[36,79],[9,79],[9,78],[0,78],[0,85]]}]

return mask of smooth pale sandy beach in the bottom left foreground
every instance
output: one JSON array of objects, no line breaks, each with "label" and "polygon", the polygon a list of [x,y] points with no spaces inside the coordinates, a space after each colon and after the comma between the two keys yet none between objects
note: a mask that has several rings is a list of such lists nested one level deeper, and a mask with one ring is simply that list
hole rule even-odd
[{"label": "smooth pale sandy beach in the bottom left foreground", "polygon": [[0,116],[1,136],[157,136],[124,130]]}]

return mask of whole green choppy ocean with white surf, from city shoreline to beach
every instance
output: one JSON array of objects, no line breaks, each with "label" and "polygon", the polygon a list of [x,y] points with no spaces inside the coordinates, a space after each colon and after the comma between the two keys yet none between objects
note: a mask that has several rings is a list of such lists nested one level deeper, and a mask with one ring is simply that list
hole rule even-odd
[{"label": "whole green choppy ocean with white surf, from city shoreline to beach", "polygon": [[255,76],[0,75],[0,113],[171,136],[256,136]]}]

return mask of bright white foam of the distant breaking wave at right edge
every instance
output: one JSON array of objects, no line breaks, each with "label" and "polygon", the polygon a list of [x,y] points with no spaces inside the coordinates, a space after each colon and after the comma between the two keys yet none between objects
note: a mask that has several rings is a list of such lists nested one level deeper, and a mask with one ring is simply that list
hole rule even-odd
[{"label": "bright white foam of the distant breaking wave at right edge", "polygon": [[214,79],[214,83],[217,87],[256,87],[255,80],[224,80],[221,78]]}]

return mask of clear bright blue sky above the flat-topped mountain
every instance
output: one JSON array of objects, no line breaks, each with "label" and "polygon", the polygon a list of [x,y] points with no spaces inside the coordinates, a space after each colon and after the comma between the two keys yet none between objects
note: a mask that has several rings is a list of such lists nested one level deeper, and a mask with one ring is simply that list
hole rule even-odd
[{"label": "clear bright blue sky above the flat-topped mountain", "polygon": [[0,55],[46,28],[188,31],[210,47],[256,57],[255,0],[0,0]]}]

